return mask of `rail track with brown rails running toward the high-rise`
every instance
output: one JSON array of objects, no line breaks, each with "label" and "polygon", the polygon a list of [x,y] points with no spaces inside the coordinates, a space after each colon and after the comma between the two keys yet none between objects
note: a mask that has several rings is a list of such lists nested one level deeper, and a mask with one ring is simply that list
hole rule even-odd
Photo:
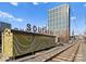
[{"label": "rail track with brown rails running toward the high-rise", "polygon": [[61,52],[60,54],[56,54],[54,56],[47,60],[46,62],[74,62],[78,53],[79,46],[81,43],[76,43],[73,47]]}]

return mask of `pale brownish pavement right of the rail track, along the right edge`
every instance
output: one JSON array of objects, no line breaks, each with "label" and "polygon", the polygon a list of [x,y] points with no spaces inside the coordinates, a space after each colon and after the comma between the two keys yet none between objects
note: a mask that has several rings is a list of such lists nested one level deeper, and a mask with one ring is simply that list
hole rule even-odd
[{"label": "pale brownish pavement right of the rail track, along the right edge", "polygon": [[81,47],[75,57],[75,62],[86,62],[86,42],[84,42],[84,40],[81,40],[79,42]]}]

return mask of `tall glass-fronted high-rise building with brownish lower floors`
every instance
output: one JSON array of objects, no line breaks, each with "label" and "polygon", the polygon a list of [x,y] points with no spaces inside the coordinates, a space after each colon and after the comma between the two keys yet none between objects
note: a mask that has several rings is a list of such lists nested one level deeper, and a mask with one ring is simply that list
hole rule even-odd
[{"label": "tall glass-fronted high-rise building with brownish lower floors", "polygon": [[48,29],[53,31],[57,36],[56,41],[70,39],[70,7],[69,4],[61,4],[59,7],[49,9]]}]

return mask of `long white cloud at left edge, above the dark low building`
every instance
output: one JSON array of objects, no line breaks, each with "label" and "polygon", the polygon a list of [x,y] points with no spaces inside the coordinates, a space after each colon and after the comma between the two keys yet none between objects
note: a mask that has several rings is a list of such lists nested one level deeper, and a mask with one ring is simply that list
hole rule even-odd
[{"label": "long white cloud at left edge, above the dark low building", "polygon": [[13,15],[11,15],[10,13],[7,13],[7,12],[2,12],[0,11],[0,20],[8,20],[8,21],[16,21],[16,22],[23,22],[22,18],[17,18]]}]

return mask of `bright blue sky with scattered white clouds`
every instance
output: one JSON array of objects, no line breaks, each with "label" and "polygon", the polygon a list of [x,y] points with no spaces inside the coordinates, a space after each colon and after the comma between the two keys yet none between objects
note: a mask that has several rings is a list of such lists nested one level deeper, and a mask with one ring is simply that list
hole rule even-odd
[{"label": "bright blue sky with scattered white clouds", "polygon": [[25,29],[29,23],[39,27],[48,25],[48,10],[54,7],[70,4],[70,28],[75,34],[85,29],[86,2],[0,2],[0,21]]}]

